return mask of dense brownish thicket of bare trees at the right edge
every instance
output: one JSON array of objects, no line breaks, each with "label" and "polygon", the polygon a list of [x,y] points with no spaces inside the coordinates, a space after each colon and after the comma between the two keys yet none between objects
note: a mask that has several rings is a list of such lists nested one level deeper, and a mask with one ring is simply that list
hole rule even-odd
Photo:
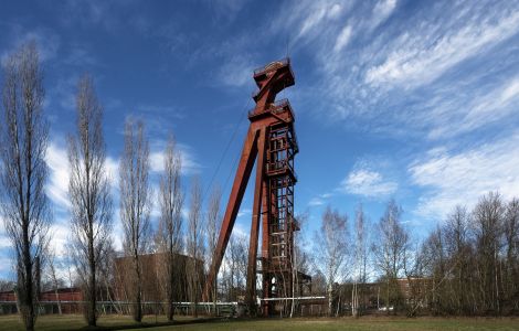
[{"label": "dense brownish thicket of bare trees at the right edge", "polygon": [[428,308],[441,314],[519,312],[519,200],[483,196],[456,206],[423,243],[415,277],[427,277]]}]

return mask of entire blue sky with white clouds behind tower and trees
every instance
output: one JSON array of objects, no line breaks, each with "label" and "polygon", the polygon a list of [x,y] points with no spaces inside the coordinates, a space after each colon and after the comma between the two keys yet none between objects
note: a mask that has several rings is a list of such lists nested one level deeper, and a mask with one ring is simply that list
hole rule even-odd
[{"label": "entire blue sky with white clouds behind tower and trees", "polygon": [[[279,98],[296,113],[296,212],[309,214],[307,234],[328,204],[351,217],[361,202],[375,222],[394,197],[421,237],[455,204],[470,207],[490,190],[519,195],[518,32],[518,1],[11,1],[0,11],[0,56],[31,39],[40,46],[61,254],[65,137],[83,73],[105,108],[116,201],[131,115],[147,125],[153,185],[172,130],[186,190],[193,175],[204,188],[214,175],[226,203],[254,106],[252,71],[286,55],[296,85]],[[251,205],[248,190],[241,233]],[[0,225],[0,277],[12,276],[9,258]]]}]

